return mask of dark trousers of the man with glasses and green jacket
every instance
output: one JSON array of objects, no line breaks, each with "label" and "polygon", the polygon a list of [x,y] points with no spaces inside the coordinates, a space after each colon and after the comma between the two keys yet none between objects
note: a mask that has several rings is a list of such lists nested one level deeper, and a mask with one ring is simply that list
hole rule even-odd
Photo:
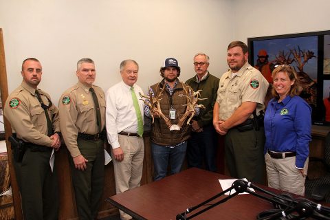
[{"label": "dark trousers of the man with glasses and green jacket", "polygon": [[216,156],[218,135],[213,125],[204,126],[202,132],[192,132],[188,140],[188,167],[203,168],[217,172]]}]

